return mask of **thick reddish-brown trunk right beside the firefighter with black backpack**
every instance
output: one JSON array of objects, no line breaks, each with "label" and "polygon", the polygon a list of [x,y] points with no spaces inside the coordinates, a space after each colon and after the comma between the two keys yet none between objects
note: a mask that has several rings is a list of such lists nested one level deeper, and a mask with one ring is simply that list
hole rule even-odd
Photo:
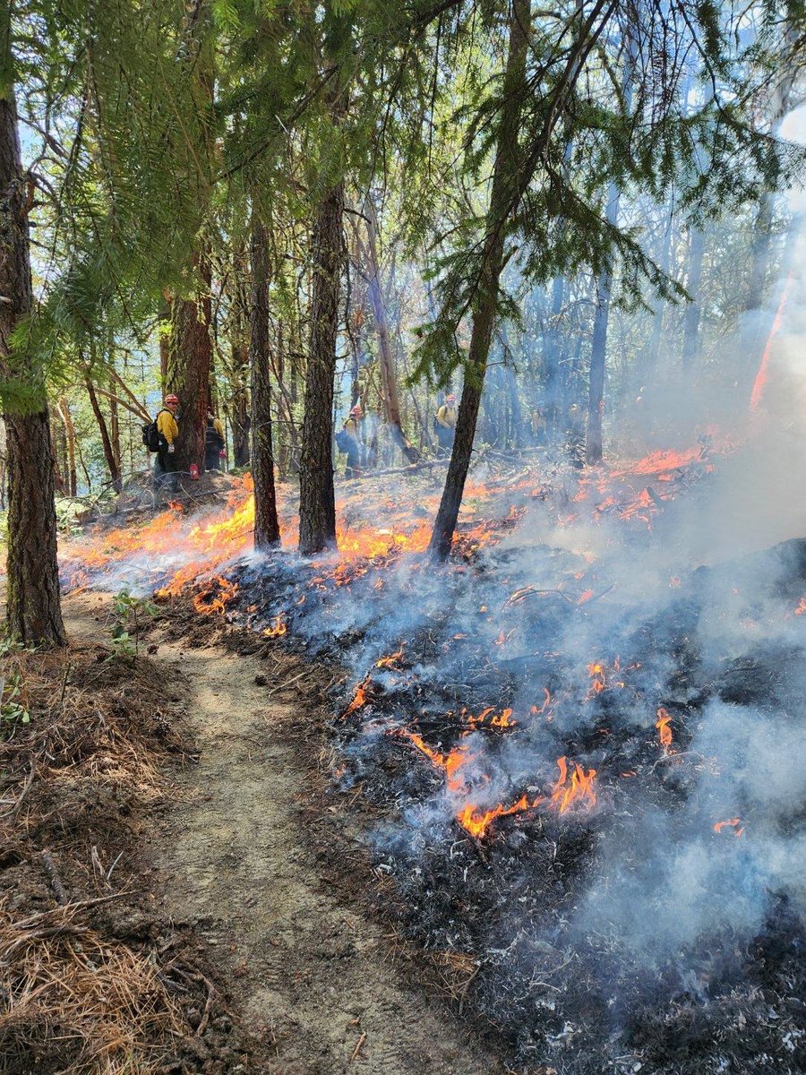
[{"label": "thick reddish-brown trunk right beside the firefighter with black backpack", "polygon": [[210,410],[210,370],[213,358],[211,327],[211,269],[206,255],[193,259],[199,292],[192,299],[172,303],[171,349],[168,385],[179,398],[179,436],[176,468],[204,470],[204,434]]}]

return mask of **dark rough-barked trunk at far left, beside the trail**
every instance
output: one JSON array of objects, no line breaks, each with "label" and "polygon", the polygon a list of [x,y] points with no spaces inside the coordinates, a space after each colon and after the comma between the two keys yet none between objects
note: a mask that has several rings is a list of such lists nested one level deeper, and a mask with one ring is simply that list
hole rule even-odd
[{"label": "dark rough-barked trunk at far left, beside the trail", "polygon": [[29,646],[67,642],[56,557],[53,448],[43,377],[33,357],[8,358],[11,334],[33,305],[25,177],[14,98],[11,12],[0,12],[0,374],[32,386],[39,410],[6,414],[9,547],[6,624],[10,635]]}]

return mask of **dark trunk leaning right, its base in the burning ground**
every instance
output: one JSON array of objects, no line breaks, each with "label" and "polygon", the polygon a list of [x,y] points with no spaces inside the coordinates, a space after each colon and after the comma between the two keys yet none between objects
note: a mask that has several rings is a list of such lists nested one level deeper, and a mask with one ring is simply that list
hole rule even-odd
[{"label": "dark trunk leaning right, its base in the burning ground", "polygon": [[459,414],[457,415],[454,449],[450,454],[445,488],[429,545],[432,555],[443,560],[450,553],[473,453],[478,407],[481,402],[481,389],[495,322],[499,281],[504,268],[504,217],[507,212],[514,212],[514,206],[517,206],[524,186],[529,182],[529,177],[521,174],[519,167],[518,126],[530,25],[530,0],[513,0],[513,12],[509,20],[509,48],[504,74],[504,94],[495,145],[490,207],[487,215],[481,278],[479,280],[478,299],[473,315],[467,368],[462,398],[459,403]]}]

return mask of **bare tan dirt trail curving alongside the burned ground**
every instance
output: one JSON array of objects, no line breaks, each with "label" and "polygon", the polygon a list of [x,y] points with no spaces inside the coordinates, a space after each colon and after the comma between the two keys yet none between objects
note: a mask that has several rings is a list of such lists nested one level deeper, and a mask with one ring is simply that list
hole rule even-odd
[{"label": "bare tan dirt trail curving alongside the burned ground", "polygon": [[[102,605],[98,597],[68,600],[73,635],[97,633]],[[308,759],[318,733],[308,730],[310,692],[298,693],[304,665],[280,656],[273,678],[271,663],[255,657],[154,641],[167,690],[187,691],[199,748],[147,852],[155,892],[168,916],[212,946],[238,1014],[268,1043],[269,1070],[502,1071],[441,1000],[403,980],[380,924],[334,882],[349,865],[333,861],[335,851],[330,860],[316,852],[306,789],[317,779]]]}]

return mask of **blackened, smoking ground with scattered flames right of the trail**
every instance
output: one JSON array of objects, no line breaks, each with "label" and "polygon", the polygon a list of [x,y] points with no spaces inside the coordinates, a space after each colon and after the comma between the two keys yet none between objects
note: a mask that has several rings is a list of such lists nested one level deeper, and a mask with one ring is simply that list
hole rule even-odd
[{"label": "blackened, smoking ground with scattered flames right of the trail", "polygon": [[349,670],[334,779],[380,818],[402,928],[470,959],[465,1012],[524,1065],[803,1066],[806,556],[692,570],[672,539],[719,464],[477,474],[444,569],[421,487],[372,485],[346,555],[204,564],[200,612]]}]

